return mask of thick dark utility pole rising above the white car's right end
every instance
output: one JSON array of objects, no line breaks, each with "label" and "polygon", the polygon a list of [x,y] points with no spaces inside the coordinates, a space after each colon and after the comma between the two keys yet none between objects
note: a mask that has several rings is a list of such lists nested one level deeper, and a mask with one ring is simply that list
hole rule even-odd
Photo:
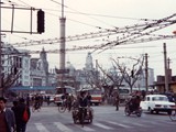
[{"label": "thick dark utility pole rising above the white car's right end", "polygon": [[166,43],[163,44],[163,48],[164,48],[164,69],[165,69],[165,89],[164,89],[164,92],[168,92],[168,68],[167,68]]}]

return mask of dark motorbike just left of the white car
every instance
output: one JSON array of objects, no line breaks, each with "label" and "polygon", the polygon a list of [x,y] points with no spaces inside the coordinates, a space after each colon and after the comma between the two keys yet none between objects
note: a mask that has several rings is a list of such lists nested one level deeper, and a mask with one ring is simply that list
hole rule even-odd
[{"label": "dark motorbike just left of the white car", "polygon": [[124,108],[125,116],[136,114],[138,117],[141,117],[142,116],[142,108],[141,107],[138,107],[135,109],[134,108],[135,107],[133,107],[132,103],[127,102],[125,108]]}]

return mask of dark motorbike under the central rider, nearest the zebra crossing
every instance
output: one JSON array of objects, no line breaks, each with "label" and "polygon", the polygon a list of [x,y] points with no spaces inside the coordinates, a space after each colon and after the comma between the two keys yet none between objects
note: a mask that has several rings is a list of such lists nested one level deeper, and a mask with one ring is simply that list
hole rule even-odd
[{"label": "dark motorbike under the central rider, nearest the zebra crossing", "polygon": [[94,119],[94,110],[90,107],[78,107],[73,110],[74,123],[80,123],[84,125],[85,122],[91,123]]}]

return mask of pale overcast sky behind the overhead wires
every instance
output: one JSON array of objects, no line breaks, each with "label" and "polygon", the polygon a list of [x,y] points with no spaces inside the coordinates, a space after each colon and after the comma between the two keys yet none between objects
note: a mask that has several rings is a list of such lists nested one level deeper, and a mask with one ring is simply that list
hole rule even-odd
[{"label": "pale overcast sky behind the overhead wires", "polygon": [[[2,6],[23,7],[30,9],[42,9],[45,11],[45,33],[9,33],[6,32],[3,41],[15,45],[16,43],[42,41],[48,38],[59,38],[62,18],[62,0],[1,0]],[[147,22],[154,22],[176,13],[176,0],[64,0],[64,16],[66,18],[66,37],[76,36],[99,31],[117,30],[127,26],[139,25]],[[30,31],[30,10],[14,10],[13,30]],[[176,19],[176,16],[174,18]],[[174,20],[173,19],[173,20]],[[33,11],[32,30],[36,31],[36,10]],[[1,26],[2,30],[10,30],[12,23],[12,10],[1,9]],[[135,26],[136,28],[136,26]],[[173,35],[176,30],[176,24],[162,29],[153,34]],[[107,44],[111,41],[117,41],[123,37],[124,34],[107,35],[103,37],[94,37],[79,41],[66,42],[66,48],[77,46],[94,46]],[[86,35],[85,35],[86,36]],[[146,36],[147,38],[148,36]],[[94,64],[96,59],[99,65],[108,68],[111,67],[111,58],[135,57],[147,53],[148,67],[154,68],[154,74],[164,75],[164,54],[163,44],[166,43],[167,57],[170,59],[170,68],[173,75],[176,75],[176,38],[120,44],[112,46],[106,51],[84,50],[66,52],[66,62],[70,62],[76,69],[85,67],[86,56],[88,52],[92,52]],[[15,45],[16,46],[16,45]],[[41,51],[42,48],[59,50],[59,43],[38,44],[31,46],[16,46],[16,48],[25,48],[30,51]],[[38,57],[38,54],[32,54],[33,57]],[[50,53],[47,55],[50,67],[59,67],[59,54]],[[125,62],[123,62],[125,63]]]}]

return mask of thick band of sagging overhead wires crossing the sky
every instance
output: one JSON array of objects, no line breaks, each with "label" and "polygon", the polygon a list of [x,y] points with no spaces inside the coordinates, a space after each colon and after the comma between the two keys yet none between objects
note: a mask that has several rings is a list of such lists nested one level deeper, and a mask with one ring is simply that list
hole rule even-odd
[{"label": "thick band of sagging overhead wires crossing the sky", "polygon": [[[117,45],[176,38],[176,34],[172,34],[172,35],[154,34],[154,32],[156,31],[161,31],[167,26],[175,24],[176,23],[175,18],[176,18],[176,13],[160,20],[142,19],[144,22],[141,24],[133,24],[124,28],[102,29],[101,31],[98,31],[98,32],[90,32],[90,33],[84,33],[84,34],[74,35],[74,36],[67,36],[65,37],[66,42],[101,37],[102,41],[106,41],[106,43],[98,44],[98,45],[88,45],[88,46],[73,46],[70,48],[66,48],[66,51],[92,50],[92,52],[96,52],[96,51],[103,52]],[[55,38],[47,38],[47,40],[41,40],[41,41],[13,43],[11,45],[13,45],[14,47],[22,47],[22,46],[34,46],[34,45],[43,45],[43,44],[58,44],[58,43],[61,43],[61,38],[55,37]],[[46,51],[46,52],[58,53],[59,50]],[[40,51],[31,51],[31,54],[35,54],[35,53],[40,53]]]}]

